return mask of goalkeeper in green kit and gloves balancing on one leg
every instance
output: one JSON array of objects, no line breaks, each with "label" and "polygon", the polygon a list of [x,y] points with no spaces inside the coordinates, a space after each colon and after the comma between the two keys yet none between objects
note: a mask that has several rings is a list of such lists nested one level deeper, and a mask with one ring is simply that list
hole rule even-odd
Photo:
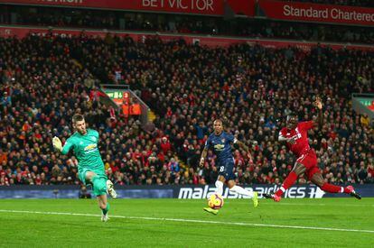
[{"label": "goalkeeper in green kit and gloves balancing on one leg", "polygon": [[91,184],[94,194],[98,197],[98,207],[102,211],[101,221],[108,221],[109,204],[108,194],[116,198],[117,193],[113,183],[108,180],[104,170],[104,163],[98,152],[98,132],[86,129],[86,122],[83,115],[72,117],[72,126],[76,130],[62,147],[58,137],[53,137],[53,147],[62,154],[67,154],[72,148],[78,160],[79,179],[85,184]]}]

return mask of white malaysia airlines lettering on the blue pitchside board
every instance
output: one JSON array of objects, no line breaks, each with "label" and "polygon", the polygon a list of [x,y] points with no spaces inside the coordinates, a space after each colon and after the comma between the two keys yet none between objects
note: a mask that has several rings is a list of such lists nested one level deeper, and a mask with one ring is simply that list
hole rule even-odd
[{"label": "white malaysia airlines lettering on the blue pitchside board", "polygon": [[[247,187],[249,191],[257,191],[259,197],[264,193],[276,192],[279,186],[257,186],[255,188]],[[216,190],[215,187],[209,185],[201,187],[182,187],[179,189],[178,198],[180,199],[203,199],[208,198]],[[324,195],[323,190],[316,186],[300,186],[288,188],[285,191],[285,198],[322,198]],[[223,190],[223,197],[225,198],[249,198],[238,195],[237,193],[229,192],[229,188]]]}]

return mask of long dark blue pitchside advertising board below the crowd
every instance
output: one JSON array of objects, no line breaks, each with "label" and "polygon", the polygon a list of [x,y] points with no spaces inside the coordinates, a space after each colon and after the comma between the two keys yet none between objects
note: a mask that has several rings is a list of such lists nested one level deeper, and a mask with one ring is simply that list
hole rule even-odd
[{"label": "long dark blue pitchside advertising board below the crowd", "polygon": [[[374,197],[374,184],[354,186],[362,197]],[[250,185],[244,186],[248,190],[262,193],[274,192],[277,185]],[[214,186],[116,186],[120,198],[182,198],[203,199],[215,191]],[[90,189],[88,190],[91,194]],[[229,193],[229,188],[224,189],[224,197],[246,198],[238,194]],[[78,198],[79,186],[10,186],[0,187],[0,198]],[[298,185],[285,191],[287,198],[322,198],[322,197],[349,197],[344,194],[329,194],[314,185]]]}]

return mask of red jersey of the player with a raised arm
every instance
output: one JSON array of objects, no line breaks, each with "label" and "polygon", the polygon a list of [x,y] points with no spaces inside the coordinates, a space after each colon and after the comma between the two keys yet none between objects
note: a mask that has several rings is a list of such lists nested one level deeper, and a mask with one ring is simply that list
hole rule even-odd
[{"label": "red jersey of the player with a raised arm", "polygon": [[282,128],[279,132],[279,136],[285,138],[295,137],[295,144],[287,142],[287,147],[291,152],[295,154],[296,157],[300,157],[305,152],[308,152],[311,147],[308,142],[308,130],[313,128],[313,121],[302,122],[297,124],[295,129],[288,130],[286,127]]}]

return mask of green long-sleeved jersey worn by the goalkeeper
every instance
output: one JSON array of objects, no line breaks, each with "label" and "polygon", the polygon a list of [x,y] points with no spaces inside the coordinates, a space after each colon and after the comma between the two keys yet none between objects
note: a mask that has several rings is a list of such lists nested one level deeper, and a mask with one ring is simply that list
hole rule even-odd
[{"label": "green long-sleeved jersey worn by the goalkeeper", "polygon": [[71,148],[78,160],[78,170],[104,170],[104,163],[98,152],[98,131],[87,129],[85,135],[73,133],[65,142],[62,154],[67,154]]}]

